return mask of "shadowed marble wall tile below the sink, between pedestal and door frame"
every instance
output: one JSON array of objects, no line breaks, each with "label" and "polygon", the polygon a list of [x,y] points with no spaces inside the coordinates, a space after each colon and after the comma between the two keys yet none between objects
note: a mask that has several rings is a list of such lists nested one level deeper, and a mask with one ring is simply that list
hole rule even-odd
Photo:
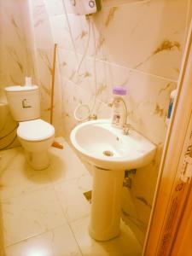
[{"label": "shadowed marble wall tile below the sink, between pedestal and door frame", "polygon": [[152,163],[129,174],[124,181],[122,218],[141,244],[148,229],[162,150],[163,143],[157,146]]}]

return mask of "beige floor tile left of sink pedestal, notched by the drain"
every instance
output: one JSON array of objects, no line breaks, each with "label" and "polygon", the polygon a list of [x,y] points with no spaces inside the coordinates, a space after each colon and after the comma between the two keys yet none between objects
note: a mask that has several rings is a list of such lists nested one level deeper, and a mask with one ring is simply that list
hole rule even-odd
[{"label": "beige floor tile left of sink pedestal, notched by the drain", "polygon": [[84,192],[91,188],[92,177],[89,174],[55,184],[55,190],[69,222],[90,214],[90,202],[85,199]]}]

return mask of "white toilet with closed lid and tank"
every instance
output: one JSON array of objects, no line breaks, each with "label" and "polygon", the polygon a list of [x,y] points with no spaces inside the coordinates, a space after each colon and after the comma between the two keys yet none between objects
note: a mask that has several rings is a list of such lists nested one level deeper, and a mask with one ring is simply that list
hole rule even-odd
[{"label": "white toilet with closed lid and tank", "polygon": [[40,117],[40,96],[37,85],[5,88],[9,109],[19,122],[17,136],[25,148],[26,160],[35,170],[49,166],[48,149],[54,141],[55,128]]}]

